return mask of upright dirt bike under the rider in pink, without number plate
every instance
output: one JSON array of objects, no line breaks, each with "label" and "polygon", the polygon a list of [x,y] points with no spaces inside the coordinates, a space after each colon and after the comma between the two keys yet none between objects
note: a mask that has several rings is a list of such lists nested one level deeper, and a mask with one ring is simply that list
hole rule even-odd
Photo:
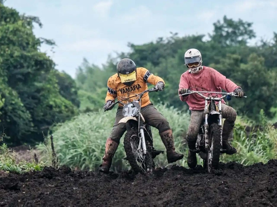
[{"label": "upright dirt bike under the rider in pink, without number plate", "polygon": [[[222,148],[222,111],[221,100],[227,97],[227,100],[231,100],[231,96],[238,96],[234,92],[209,92],[209,91],[192,91],[179,95],[184,96],[192,93],[197,93],[205,99],[205,108],[203,122],[200,126],[199,133],[196,141],[196,149],[191,150],[198,153],[203,159],[203,168],[208,169],[211,172],[212,169],[217,169],[219,165],[220,154],[226,152],[226,149]],[[210,93],[210,96],[203,95],[202,93]],[[215,95],[211,95],[215,94]],[[218,94],[222,94],[222,97],[215,97]],[[246,97],[246,96],[243,96]],[[218,102],[216,104],[215,102]],[[209,103],[208,103],[209,102]]]}]

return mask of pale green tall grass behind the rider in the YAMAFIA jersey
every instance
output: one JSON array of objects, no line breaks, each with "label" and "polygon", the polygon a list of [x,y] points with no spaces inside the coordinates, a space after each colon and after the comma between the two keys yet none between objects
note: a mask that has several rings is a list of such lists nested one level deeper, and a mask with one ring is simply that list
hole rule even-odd
[{"label": "pale green tall grass behind the rider in the YAMAFIA jersey", "polygon": [[[170,123],[176,151],[185,153],[182,143],[187,133],[190,114],[178,113],[176,109],[168,108],[165,105],[157,105],[156,107]],[[71,168],[77,167],[82,170],[98,170],[105,152],[106,139],[112,130],[115,113],[116,109],[107,112],[99,110],[83,113],[70,121],[57,125],[52,136],[59,165],[65,164]],[[152,127],[152,133],[155,149],[165,151],[158,130]],[[122,160],[126,157],[123,148],[124,136],[125,134],[122,136],[120,145],[113,157],[111,169],[115,172],[129,168],[128,162],[125,159]],[[38,149],[43,150],[44,145],[40,144]],[[168,164],[166,153],[160,154],[154,161],[158,167],[166,166]],[[179,161],[177,164],[185,165],[184,161]]]}]

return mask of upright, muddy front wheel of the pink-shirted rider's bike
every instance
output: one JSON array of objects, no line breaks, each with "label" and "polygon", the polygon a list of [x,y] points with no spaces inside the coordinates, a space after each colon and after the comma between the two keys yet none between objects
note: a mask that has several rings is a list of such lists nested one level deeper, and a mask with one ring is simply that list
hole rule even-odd
[{"label": "upright, muddy front wheel of the pink-shirted rider's bike", "polygon": [[220,126],[212,123],[209,130],[209,150],[207,153],[207,160],[204,162],[207,166],[208,172],[212,169],[217,169],[220,157]]}]

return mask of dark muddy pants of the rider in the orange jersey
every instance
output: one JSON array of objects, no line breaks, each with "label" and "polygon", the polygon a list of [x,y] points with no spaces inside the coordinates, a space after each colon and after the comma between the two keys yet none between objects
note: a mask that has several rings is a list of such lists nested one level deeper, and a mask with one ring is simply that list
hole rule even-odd
[{"label": "dark muddy pants of the rider in the orange jersey", "polygon": [[[125,123],[118,124],[120,119],[124,118],[122,109],[122,107],[117,108],[114,126],[112,128],[112,133],[110,134],[110,138],[117,143],[119,143],[120,138],[126,131]],[[157,128],[160,133],[170,129],[168,121],[152,104],[142,107],[141,114],[144,117],[145,122],[150,126]]]}]

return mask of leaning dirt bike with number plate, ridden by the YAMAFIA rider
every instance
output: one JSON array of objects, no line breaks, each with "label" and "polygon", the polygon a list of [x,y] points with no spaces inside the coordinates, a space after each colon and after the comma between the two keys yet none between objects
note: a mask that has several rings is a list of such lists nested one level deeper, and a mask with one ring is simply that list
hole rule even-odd
[{"label": "leaning dirt bike with number plate, ridden by the YAMAFIA rider", "polygon": [[[126,158],[124,159],[128,160],[131,168],[135,172],[140,172],[141,174],[151,174],[155,169],[153,159],[160,153],[164,153],[164,151],[154,149],[151,127],[145,123],[144,117],[140,112],[141,97],[147,92],[154,91],[157,92],[158,89],[154,87],[140,94],[133,93],[125,97],[117,97],[117,102],[114,102],[106,109],[108,110],[114,107],[117,103],[123,105],[122,114],[124,118],[118,123],[126,124],[126,134],[123,142],[126,153]],[[133,101],[131,101],[130,98],[134,98]],[[124,104],[122,102],[124,100],[126,100],[127,103]]]}]

